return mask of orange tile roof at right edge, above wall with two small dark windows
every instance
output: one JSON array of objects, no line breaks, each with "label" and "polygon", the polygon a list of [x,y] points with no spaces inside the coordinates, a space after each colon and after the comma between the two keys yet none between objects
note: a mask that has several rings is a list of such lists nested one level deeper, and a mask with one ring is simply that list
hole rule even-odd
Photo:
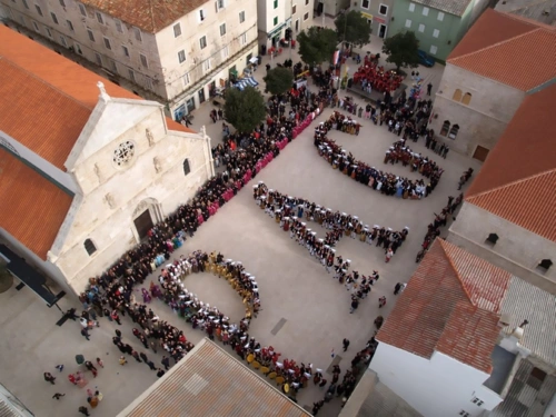
[{"label": "orange tile roof at right edge, above wall with two small dark windows", "polygon": [[[490,151],[466,201],[556,241],[556,85],[527,96]],[[524,150],[527,150],[524,153]]]}]

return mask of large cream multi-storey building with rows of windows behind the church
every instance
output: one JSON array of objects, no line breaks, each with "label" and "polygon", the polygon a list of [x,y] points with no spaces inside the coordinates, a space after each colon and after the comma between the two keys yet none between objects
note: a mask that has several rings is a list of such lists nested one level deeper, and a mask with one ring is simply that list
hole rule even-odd
[{"label": "large cream multi-storey building with rows of windows behind the church", "polygon": [[[8,18],[152,92],[175,120],[257,56],[256,0],[0,0]],[[139,89],[138,89],[139,90]]]}]

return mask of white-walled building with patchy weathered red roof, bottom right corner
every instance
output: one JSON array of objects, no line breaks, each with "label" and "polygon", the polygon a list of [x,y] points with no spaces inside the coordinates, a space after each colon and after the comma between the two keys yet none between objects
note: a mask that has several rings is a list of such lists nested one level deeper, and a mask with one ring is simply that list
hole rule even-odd
[{"label": "white-walled building with patchy weathered red roof, bottom right corner", "polygon": [[369,368],[423,416],[554,414],[554,296],[451,244],[436,240],[376,338]]}]

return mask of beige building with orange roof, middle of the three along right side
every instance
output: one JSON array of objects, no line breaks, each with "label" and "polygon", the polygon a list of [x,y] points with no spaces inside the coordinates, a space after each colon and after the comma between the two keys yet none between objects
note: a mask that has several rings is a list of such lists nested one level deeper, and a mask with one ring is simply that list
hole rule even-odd
[{"label": "beige building with orange roof, middle of the three along right side", "polygon": [[556,83],[525,98],[448,240],[556,295],[555,108]]}]

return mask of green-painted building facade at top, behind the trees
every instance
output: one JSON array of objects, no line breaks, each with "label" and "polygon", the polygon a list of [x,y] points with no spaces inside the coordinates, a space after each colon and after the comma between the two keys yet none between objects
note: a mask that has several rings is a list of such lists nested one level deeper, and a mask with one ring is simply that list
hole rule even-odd
[{"label": "green-painted building facade at top, behind the trees", "polygon": [[487,4],[486,0],[396,0],[389,32],[415,32],[421,50],[446,61]]}]

